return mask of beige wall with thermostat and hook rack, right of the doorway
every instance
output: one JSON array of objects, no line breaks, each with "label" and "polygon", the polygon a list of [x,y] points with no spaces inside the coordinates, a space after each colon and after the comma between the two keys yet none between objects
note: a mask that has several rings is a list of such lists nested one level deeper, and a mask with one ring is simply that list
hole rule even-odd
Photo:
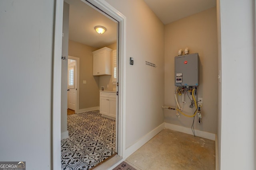
[{"label": "beige wall with thermostat and hook rack, right of the doorway", "polygon": [[[143,0],[106,1],[126,17],[123,85],[128,148],[164,122],[164,25]],[[134,65],[129,64],[130,57]],[[157,67],[146,66],[145,61]]]}]

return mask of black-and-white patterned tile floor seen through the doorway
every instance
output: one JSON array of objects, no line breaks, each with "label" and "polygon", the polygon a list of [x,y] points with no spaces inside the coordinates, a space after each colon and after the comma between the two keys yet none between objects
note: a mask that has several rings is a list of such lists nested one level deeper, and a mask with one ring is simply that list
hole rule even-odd
[{"label": "black-and-white patterned tile floor seen through the doorway", "polygon": [[88,170],[116,150],[116,121],[99,110],[68,115],[69,138],[61,140],[62,170]]}]

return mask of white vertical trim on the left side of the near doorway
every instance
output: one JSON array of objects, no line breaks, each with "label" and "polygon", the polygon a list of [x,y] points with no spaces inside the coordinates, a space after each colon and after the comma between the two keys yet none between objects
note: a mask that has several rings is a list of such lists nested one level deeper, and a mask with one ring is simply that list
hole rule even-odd
[{"label": "white vertical trim on the left side of the near doorway", "polygon": [[60,110],[63,0],[55,0],[54,47],[52,68],[52,167],[60,170]]}]

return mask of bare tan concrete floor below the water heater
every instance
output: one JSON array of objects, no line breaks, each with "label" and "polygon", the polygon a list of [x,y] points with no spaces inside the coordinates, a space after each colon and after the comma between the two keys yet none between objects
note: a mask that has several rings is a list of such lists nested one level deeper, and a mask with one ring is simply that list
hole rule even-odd
[{"label": "bare tan concrete floor below the water heater", "polygon": [[164,129],[126,162],[137,170],[215,170],[215,142]]}]

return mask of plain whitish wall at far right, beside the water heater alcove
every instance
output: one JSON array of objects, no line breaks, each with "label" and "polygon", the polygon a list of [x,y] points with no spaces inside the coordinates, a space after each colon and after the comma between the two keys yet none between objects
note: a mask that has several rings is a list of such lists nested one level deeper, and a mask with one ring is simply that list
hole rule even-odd
[{"label": "plain whitish wall at far right, beside the water heater alcove", "polygon": [[[256,169],[255,1],[218,0],[220,170]],[[232,4],[232,5],[230,5]],[[243,81],[246,80],[246,81]]]}]

